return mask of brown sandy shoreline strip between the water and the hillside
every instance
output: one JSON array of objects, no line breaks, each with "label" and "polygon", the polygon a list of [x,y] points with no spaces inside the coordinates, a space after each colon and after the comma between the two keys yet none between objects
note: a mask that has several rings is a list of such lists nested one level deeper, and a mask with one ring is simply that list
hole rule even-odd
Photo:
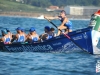
[{"label": "brown sandy shoreline strip between the water and the hillside", "polygon": [[[9,16],[9,17],[29,17],[29,18],[37,18],[41,15],[45,15],[47,17],[55,17],[56,13],[36,13],[36,12],[0,12],[0,16]],[[57,16],[57,14],[56,14]],[[78,20],[89,20],[91,16],[82,16],[82,15],[67,15],[67,17],[71,20],[78,19]]]}]

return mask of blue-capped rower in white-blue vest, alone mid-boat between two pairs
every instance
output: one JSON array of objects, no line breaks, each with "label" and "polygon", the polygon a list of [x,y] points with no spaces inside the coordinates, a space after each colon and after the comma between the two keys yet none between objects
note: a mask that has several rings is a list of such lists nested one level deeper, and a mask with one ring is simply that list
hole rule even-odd
[{"label": "blue-capped rower in white-blue vest, alone mid-boat between two pairs", "polygon": [[35,28],[31,27],[29,30],[29,34],[27,37],[27,42],[29,43],[38,43],[39,42],[39,35],[36,33]]}]

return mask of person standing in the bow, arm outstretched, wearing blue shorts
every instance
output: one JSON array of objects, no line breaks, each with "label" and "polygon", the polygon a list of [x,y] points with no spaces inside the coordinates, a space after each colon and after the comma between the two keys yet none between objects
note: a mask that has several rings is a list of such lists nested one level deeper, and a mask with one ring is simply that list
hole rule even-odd
[{"label": "person standing in the bow, arm outstretched, wearing blue shorts", "polygon": [[[61,21],[61,24],[58,27],[58,29],[65,30],[66,33],[72,32],[72,22],[69,21],[68,18],[66,17],[66,12],[64,10],[60,12],[60,16],[58,16],[57,18]],[[52,19],[57,19],[57,18],[52,18]],[[58,30],[57,34],[58,36],[61,34],[60,30]]]}]

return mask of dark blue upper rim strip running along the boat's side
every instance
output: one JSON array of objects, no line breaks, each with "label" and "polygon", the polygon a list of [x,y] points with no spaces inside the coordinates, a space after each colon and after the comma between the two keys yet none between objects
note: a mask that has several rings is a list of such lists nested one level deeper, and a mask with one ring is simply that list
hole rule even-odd
[{"label": "dark blue upper rim strip running along the boat's side", "polygon": [[[78,30],[76,30],[76,31],[73,31],[73,32],[70,32],[70,33],[68,33],[68,35],[70,36],[70,37],[72,37],[72,36],[74,36],[74,35],[77,35],[77,34],[80,34],[80,33],[83,33],[83,32],[88,32],[88,31],[90,31],[92,29],[92,27],[91,28],[89,28],[89,27],[87,27],[87,28],[84,28],[84,29],[78,29]],[[43,44],[43,43],[47,43],[47,42],[52,42],[52,41],[54,41],[54,40],[59,40],[59,39],[63,39],[63,38],[66,38],[66,39],[68,39],[66,36],[64,36],[63,34],[62,35],[60,35],[60,36],[56,36],[56,37],[53,37],[52,39],[49,39],[49,40],[46,40],[46,41],[44,41],[44,42],[39,42],[39,43],[24,43],[24,42],[13,42],[12,44],[4,44],[3,42],[0,42],[0,46],[10,46],[10,45],[18,45],[18,44],[22,44],[22,45],[38,45],[38,44]]]}]

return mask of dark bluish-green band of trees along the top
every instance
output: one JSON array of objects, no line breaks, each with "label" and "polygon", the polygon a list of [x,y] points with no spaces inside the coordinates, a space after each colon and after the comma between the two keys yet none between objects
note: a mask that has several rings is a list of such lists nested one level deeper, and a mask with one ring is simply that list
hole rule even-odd
[{"label": "dark bluish-green band of trees along the top", "polygon": [[[8,1],[16,2],[16,0]],[[59,7],[66,5],[100,6],[100,0],[23,0],[21,3],[37,7],[48,7],[50,5],[57,5]]]}]

